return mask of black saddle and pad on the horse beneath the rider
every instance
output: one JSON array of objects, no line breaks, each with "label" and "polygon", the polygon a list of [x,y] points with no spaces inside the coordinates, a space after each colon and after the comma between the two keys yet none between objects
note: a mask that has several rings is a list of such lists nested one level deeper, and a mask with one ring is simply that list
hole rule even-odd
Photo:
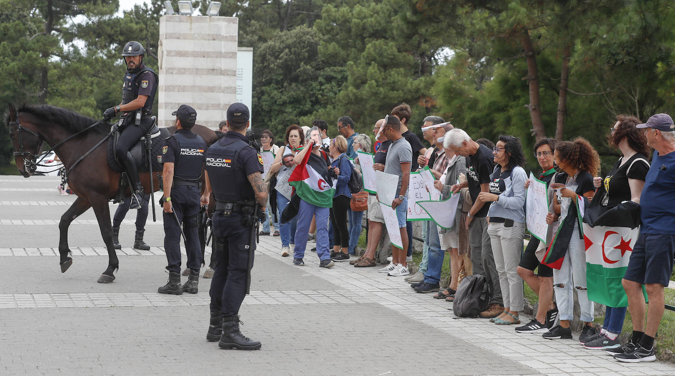
[{"label": "black saddle and pad on the horse beneath the rider", "polygon": [[[153,164],[153,173],[155,171],[161,173],[162,164],[162,146],[164,139],[169,137],[169,130],[166,128],[157,127],[157,117],[153,116],[153,126],[150,131],[140,137],[136,145],[134,145],[130,152],[134,157],[134,163],[138,168],[139,173],[147,173],[150,168],[148,165],[148,149],[146,142],[150,143],[150,160]],[[121,173],[124,171],[124,167],[117,160],[115,155],[115,146],[117,145],[117,139],[119,139],[119,131],[115,131],[113,136],[108,140],[108,165],[115,172]]]}]

